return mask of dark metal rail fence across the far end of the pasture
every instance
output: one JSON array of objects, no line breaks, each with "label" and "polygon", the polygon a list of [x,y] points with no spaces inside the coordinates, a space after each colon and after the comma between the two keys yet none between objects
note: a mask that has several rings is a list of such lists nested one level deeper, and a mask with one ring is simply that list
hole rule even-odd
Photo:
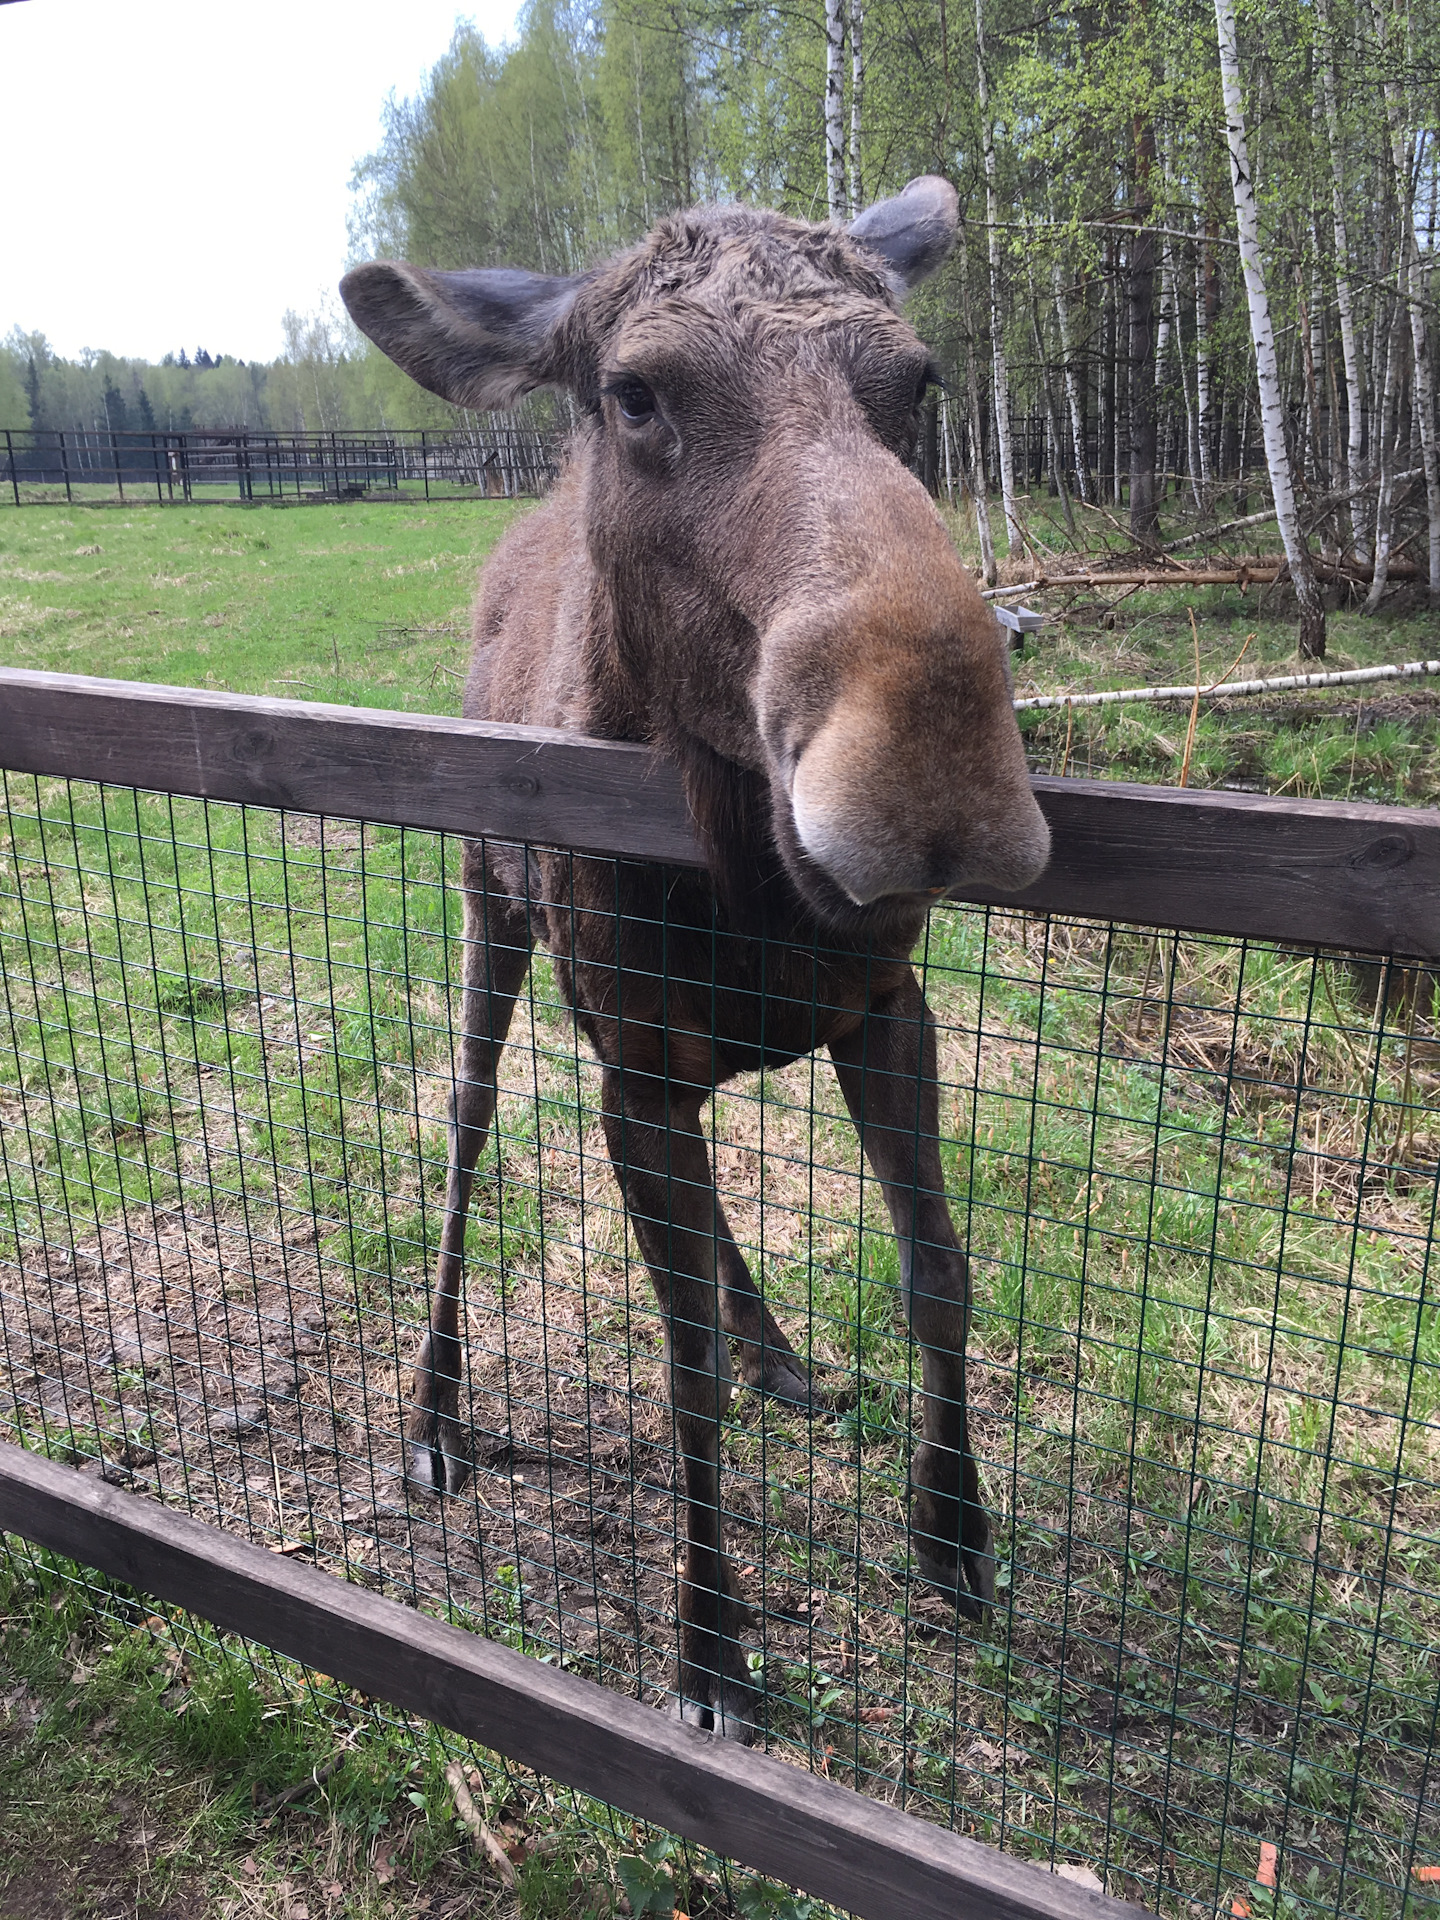
[{"label": "dark metal rail fence across the far end of the pasture", "polygon": [[528,426],[371,432],[4,430],[10,503],[134,497],[159,501],[432,499],[543,493],[563,436]]}]

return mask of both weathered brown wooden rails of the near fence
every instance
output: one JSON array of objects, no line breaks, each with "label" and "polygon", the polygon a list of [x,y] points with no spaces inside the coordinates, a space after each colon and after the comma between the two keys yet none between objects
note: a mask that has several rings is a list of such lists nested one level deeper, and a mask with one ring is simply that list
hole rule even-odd
[{"label": "both weathered brown wooden rails of the near fence", "polygon": [[[634,745],[0,670],[0,768],[699,864]],[[1048,872],[964,899],[1396,960],[1440,958],[1440,814],[1037,780]],[[194,1519],[0,1446],[0,1526],[194,1609],[872,1920],[1117,1912],[1046,1870]]]}]

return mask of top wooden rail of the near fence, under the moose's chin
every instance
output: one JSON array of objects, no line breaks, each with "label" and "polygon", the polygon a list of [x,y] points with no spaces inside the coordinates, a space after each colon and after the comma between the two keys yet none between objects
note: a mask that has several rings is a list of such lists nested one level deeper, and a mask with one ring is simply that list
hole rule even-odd
[{"label": "top wooden rail of the near fence, under the moose's chin", "polygon": [[[0,766],[255,806],[699,864],[676,768],[547,728],[0,668]],[[1139,925],[1440,956],[1440,812],[1035,780],[1054,852],[1021,895]]]}]

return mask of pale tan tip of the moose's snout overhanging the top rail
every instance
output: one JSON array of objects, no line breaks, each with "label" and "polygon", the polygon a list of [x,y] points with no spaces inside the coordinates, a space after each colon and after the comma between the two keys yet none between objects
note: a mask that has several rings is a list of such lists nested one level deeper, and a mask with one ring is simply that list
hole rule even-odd
[{"label": "pale tan tip of the moose's snout overhanging the top rail", "polygon": [[856,906],[960,887],[1016,893],[1044,872],[1050,829],[1035,804],[1010,712],[989,753],[908,732],[847,705],[795,762],[795,835]]}]

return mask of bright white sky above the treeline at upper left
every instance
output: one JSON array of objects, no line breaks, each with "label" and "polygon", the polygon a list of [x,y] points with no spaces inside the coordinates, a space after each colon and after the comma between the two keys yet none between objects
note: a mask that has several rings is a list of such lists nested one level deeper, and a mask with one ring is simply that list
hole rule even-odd
[{"label": "bright white sky above the treeline at upper left", "polygon": [[273,359],[346,263],[349,169],[455,19],[516,0],[0,4],[0,336]]}]

